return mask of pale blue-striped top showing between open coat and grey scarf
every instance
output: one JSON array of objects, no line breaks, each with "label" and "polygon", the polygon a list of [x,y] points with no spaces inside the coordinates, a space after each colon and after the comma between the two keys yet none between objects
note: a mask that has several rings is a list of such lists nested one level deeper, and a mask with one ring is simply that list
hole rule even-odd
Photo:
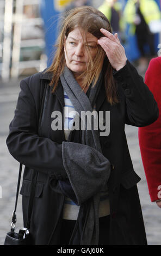
[{"label": "pale blue-striped top showing between open coat and grey scarf", "polygon": [[[71,132],[73,119],[75,118],[76,111],[69,97],[65,93],[65,90],[64,90],[64,103],[65,103],[64,133],[65,133],[65,138],[67,140]],[[95,110],[95,107],[94,107],[94,110]],[[80,206],[76,205],[70,198],[65,197],[63,218],[65,220],[77,220],[79,207]],[[109,207],[109,199],[108,199],[108,190],[107,190],[107,186],[105,186],[101,191],[99,217],[107,216],[109,214],[110,214],[110,207]]]}]

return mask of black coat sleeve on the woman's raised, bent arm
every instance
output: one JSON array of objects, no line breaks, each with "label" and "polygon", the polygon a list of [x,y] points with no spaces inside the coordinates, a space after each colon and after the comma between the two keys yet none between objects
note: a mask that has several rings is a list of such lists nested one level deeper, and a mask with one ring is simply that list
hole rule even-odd
[{"label": "black coat sleeve on the woman's raised, bent arm", "polygon": [[127,60],[114,77],[125,95],[125,123],[142,127],[156,121],[159,115],[157,102],[134,66]]}]

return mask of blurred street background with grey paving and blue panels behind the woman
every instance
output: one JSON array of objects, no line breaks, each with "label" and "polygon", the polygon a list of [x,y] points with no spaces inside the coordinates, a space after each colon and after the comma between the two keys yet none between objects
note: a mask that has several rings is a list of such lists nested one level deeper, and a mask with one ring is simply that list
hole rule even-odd
[{"label": "blurred street background with grey paving and blue panels behind the woman", "polygon": [[[125,47],[127,58],[144,78],[150,59],[160,54],[161,16],[155,18],[158,14],[154,15],[153,19],[157,20],[157,23],[154,27],[151,25],[154,52],[151,52],[151,46],[145,45],[143,57],[137,45],[136,34],[131,32],[132,24],[125,12],[128,1],[116,2],[121,6],[119,10],[122,21],[118,33],[120,40]],[[160,0],[154,2],[160,12]],[[9,123],[14,117],[20,81],[23,77],[42,71],[51,64],[53,45],[60,25],[58,15],[63,16],[65,10],[86,4],[100,8],[104,0],[0,0],[0,245],[3,245],[5,234],[10,231],[16,196],[19,164],[9,154],[5,140],[9,132]],[[138,128],[126,125],[126,135],[134,170],[141,177],[138,190],[147,242],[148,245],[161,245],[161,209],[156,203],[151,203],[148,194],[139,149]],[[20,195],[17,206],[17,230],[23,225],[21,199]]]}]

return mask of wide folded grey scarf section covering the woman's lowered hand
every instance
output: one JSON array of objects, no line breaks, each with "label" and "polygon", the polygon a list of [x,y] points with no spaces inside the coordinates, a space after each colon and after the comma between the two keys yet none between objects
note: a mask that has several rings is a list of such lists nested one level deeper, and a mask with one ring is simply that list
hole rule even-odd
[{"label": "wide folded grey scarf section covering the woman's lowered hand", "polygon": [[59,180],[59,185],[73,202],[80,205],[102,190],[110,175],[110,162],[99,151],[88,145],[63,142],[62,156],[70,182]]}]

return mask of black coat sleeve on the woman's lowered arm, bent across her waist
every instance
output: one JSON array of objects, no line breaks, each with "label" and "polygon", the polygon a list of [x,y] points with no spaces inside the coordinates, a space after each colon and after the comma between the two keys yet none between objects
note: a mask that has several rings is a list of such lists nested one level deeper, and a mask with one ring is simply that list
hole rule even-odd
[{"label": "black coat sleeve on the woman's lowered arm, bent across her waist", "polygon": [[66,178],[62,144],[38,135],[38,114],[32,92],[26,81],[20,83],[14,119],[9,125],[7,146],[10,154],[25,166],[54,176]]}]

